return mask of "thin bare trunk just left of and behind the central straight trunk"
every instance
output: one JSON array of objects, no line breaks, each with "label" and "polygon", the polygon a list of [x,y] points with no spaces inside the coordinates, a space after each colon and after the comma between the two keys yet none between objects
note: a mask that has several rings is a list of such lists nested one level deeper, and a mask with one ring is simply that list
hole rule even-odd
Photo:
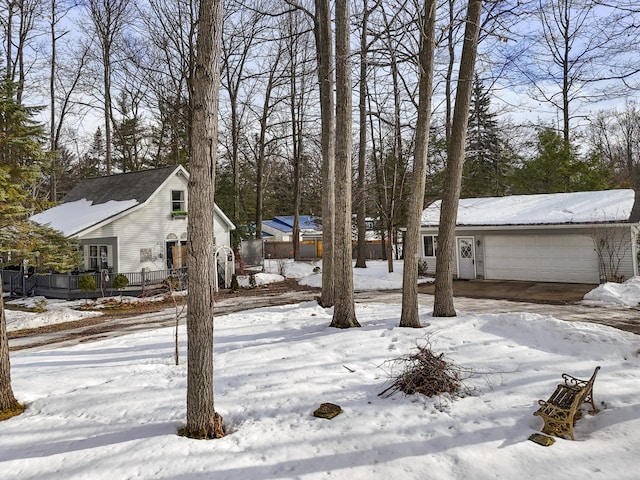
[{"label": "thin bare trunk just left of and behind the central straight trunk", "polygon": [[322,293],[320,304],[334,304],[334,225],[335,225],[335,122],[332,71],[331,5],[329,0],[315,0],[316,48],[322,117]]}]

